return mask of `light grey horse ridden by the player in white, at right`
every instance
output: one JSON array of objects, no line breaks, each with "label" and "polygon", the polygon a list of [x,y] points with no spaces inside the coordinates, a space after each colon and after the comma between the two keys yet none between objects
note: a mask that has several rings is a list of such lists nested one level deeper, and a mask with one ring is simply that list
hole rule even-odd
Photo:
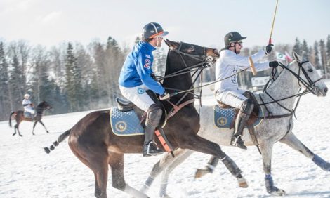
[{"label": "light grey horse ridden by the player in white, at right", "polygon": [[[265,90],[265,93],[256,94],[258,104],[265,113],[263,121],[255,127],[256,138],[260,147],[260,152],[263,158],[263,171],[265,172],[265,187],[267,192],[272,195],[284,195],[285,191],[275,187],[271,175],[271,158],[272,147],[276,142],[285,143],[294,150],[298,150],[305,157],[312,159],[312,161],[321,167],[324,171],[330,171],[330,164],[322,158],[311,152],[308,147],[303,145],[298,138],[293,134],[293,109],[295,108],[296,94],[301,88],[305,91],[310,91],[317,96],[325,96],[328,88],[324,84],[315,67],[303,60],[301,56],[293,53],[295,60],[284,67],[284,70],[279,74],[277,79]],[[285,88],[284,88],[285,87]],[[306,93],[306,92],[305,92]],[[293,96],[293,97],[291,97]],[[262,100],[260,100],[262,98]],[[276,101],[276,102],[275,102]],[[298,103],[297,103],[298,105]],[[275,116],[275,117],[274,117]],[[199,136],[211,140],[218,145],[230,145],[233,130],[229,128],[222,128],[221,133],[214,133],[219,131],[219,128],[213,124],[213,106],[201,107],[200,116],[201,128],[198,132]],[[253,141],[247,129],[244,129],[243,137],[245,140],[244,145],[251,146]],[[160,159],[150,173],[150,176],[145,181],[141,191],[147,192],[154,178],[163,171],[161,178],[160,197],[169,197],[166,194],[167,180],[169,174],[173,169],[181,164],[187,157],[192,154],[191,150],[179,149],[174,152],[176,157],[171,157],[170,154],[165,154]],[[199,169],[195,177],[204,176],[206,173],[213,171],[214,167],[218,164],[218,159],[212,157],[209,164],[204,169]],[[237,178],[240,187],[245,183],[244,178]]]}]

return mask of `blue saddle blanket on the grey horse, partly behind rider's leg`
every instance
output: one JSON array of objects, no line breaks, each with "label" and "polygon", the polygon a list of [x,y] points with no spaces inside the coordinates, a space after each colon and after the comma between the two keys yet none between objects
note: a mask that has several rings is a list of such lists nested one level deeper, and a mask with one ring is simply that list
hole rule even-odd
[{"label": "blue saddle blanket on the grey horse, partly behind rider's leg", "polygon": [[[218,128],[230,128],[232,121],[234,121],[235,117],[235,108],[220,108],[218,105],[214,107],[214,124]],[[263,117],[263,110],[259,108],[259,117]],[[258,118],[253,126],[258,126],[263,119]]]}]

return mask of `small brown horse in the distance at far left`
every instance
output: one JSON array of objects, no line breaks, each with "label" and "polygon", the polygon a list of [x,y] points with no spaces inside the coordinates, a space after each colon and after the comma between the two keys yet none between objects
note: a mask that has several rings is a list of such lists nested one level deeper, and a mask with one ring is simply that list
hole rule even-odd
[{"label": "small brown horse in the distance at far left", "polygon": [[20,126],[20,122],[21,121],[34,121],[33,129],[32,129],[32,134],[33,135],[34,135],[34,133],[33,133],[34,127],[36,126],[37,122],[40,122],[40,124],[42,126],[44,126],[44,128],[46,129],[46,132],[49,133],[49,131],[47,130],[46,126],[41,121],[42,114],[44,113],[44,110],[51,110],[51,105],[49,105],[45,101],[43,101],[43,102],[39,103],[39,105],[37,105],[37,107],[36,107],[37,114],[34,116],[33,120],[32,120],[31,117],[24,117],[24,112],[23,111],[11,112],[11,115],[9,116],[9,126],[11,126],[11,117],[12,116],[16,120],[16,124],[14,126],[15,127],[15,133],[13,133],[13,136],[15,136],[16,130],[18,131],[18,135],[22,136],[20,134],[20,130],[18,130],[18,126]]}]

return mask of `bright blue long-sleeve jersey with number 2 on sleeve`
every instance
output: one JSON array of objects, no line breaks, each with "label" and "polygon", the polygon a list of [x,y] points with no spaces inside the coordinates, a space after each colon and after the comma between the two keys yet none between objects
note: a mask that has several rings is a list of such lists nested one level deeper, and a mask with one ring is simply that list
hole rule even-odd
[{"label": "bright blue long-sleeve jersey with number 2 on sleeve", "polygon": [[154,57],[151,44],[140,41],[134,46],[133,51],[128,54],[119,76],[119,85],[124,87],[135,87],[145,84],[147,88],[162,95],[165,90],[161,84],[152,79],[152,62]]}]

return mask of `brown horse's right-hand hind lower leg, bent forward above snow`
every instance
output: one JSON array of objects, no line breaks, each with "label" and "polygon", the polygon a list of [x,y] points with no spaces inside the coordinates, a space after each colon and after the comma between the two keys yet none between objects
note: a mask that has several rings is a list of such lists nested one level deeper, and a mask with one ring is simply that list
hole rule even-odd
[{"label": "brown horse's right-hand hind lower leg, bent forward above snow", "polygon": [[109,165],[112,174],[112,187],[124,191],[133,197],[147,198],[146,194],[139,192],[125,183],[124,178],[124,154],[110,152]]}]

